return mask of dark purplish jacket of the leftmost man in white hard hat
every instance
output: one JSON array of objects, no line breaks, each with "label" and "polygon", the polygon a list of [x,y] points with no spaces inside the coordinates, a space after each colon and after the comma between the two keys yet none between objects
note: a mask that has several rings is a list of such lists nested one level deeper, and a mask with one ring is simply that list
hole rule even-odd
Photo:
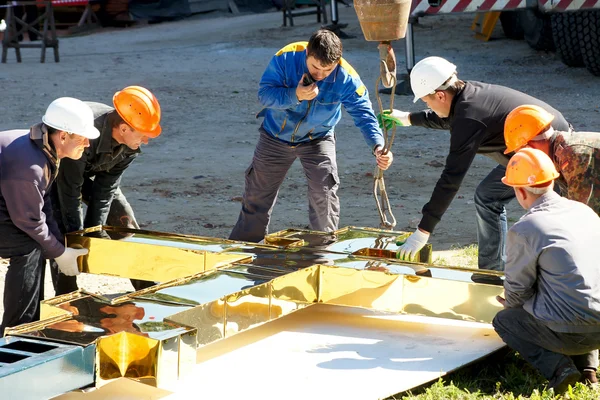
[{"label": "dark purplish jacket of the leftmost man in white hard hat", "polygon": [[58,169],[56,152],[42,132],[0,132],[0,256],[23,255],[36,242],[45,257],[65,251],[63,237],[52,215],[50,187]]}]

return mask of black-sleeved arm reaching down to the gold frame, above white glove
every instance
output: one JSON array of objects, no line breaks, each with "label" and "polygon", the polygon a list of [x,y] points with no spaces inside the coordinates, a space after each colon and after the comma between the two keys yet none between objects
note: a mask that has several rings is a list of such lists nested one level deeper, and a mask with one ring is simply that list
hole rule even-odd
[{"label": "black-sleeved arm reaching down to the gold frame, above white glove", "polygon": [[450,153],[440,179],[437,181],[429,202],[423,207],[419,223],[422,231],[431,233],[452,203],[454,196],[471,167],[479,149],[485,126],[474,120],[461,121],[460,132],[451,133]]}]

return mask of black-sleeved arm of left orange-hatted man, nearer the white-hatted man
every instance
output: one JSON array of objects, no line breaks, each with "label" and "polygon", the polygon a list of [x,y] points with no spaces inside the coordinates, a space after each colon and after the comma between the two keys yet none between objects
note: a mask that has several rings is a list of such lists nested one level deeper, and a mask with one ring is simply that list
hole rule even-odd
[{"label": "black-sleeved arm of left orange-hatted man, nearer the white-hatted man", "polygon": [[79,160],[64,158],[58,169],[55,185],[66,233],[83,229],[81,188],[83,187],[86,160],[85,153]]}]

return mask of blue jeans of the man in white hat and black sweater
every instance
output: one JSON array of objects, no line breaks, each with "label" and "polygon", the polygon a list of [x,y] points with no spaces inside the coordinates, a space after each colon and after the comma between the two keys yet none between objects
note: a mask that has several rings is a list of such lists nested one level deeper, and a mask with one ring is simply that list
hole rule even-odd
[{"label": "blue jeans of the man in white hat and black sweater", "polygon": [[505,206],[515,198],[513,188],[501,181],[505,174],[506,167],[498,165],[475,190],[480,269],[504,271],[507,232]]}]

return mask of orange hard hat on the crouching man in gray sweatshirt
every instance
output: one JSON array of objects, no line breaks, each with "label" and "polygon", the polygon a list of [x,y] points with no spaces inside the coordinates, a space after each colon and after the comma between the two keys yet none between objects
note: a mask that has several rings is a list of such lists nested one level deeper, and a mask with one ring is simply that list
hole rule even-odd
[{"label": "orange hard hat on the crouching man in gray sweatshirt", "polygon": [[511,157],[502,183],[513,187],[536,186],[558,177],[559,173],[546,153],[527,147]]}]

